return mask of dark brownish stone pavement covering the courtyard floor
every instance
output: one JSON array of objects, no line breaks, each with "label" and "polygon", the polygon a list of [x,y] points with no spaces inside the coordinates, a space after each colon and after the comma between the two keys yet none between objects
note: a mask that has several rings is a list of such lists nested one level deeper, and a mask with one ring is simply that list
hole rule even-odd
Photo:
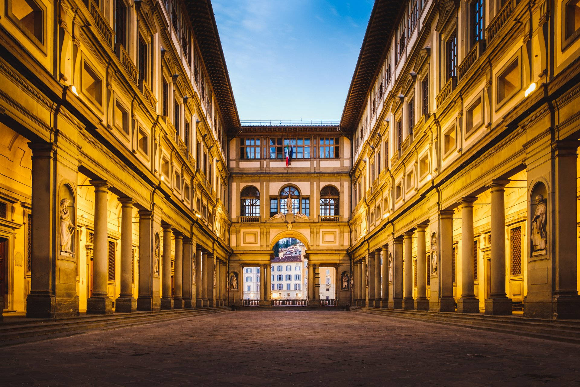
[{"label": "dark brownish stone pavement covering the courtyard floor", "polygon": [[1,386],[572,386],[580,346],[357,312],[223,312],[0,349]]}]

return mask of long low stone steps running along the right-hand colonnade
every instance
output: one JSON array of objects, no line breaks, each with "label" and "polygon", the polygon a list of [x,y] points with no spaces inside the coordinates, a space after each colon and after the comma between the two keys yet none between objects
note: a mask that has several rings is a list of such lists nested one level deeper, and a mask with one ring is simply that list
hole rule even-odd
[{"label": "long low stone steps running along the right-hand colonnade", "polygon": [[580,327],[576,324],[577,321],[559,321],[563,324],[550,325],[551,320],[524,319],[517,316],[506,319],[506,316],[480,316],[477,314],[458,314],[452,312],[419,312],[365,307],[354,307],[351,310],[381,316],[398,317],[401,319],[421,320],[427,323],[445,324],[454,327],[503,332],[580,344]]}]

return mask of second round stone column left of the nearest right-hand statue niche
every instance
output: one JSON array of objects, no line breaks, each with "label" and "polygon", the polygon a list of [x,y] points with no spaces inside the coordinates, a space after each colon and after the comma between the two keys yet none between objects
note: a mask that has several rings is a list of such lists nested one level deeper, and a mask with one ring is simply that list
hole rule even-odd
[{"label": "second round stone column left of the nearest right-hand statue niche", "polygon": [[479,300],[474,293],[473,263],[473,202],[477,197],[461,200],[461,298],[457,300],[457,312],[479,313]]}]

